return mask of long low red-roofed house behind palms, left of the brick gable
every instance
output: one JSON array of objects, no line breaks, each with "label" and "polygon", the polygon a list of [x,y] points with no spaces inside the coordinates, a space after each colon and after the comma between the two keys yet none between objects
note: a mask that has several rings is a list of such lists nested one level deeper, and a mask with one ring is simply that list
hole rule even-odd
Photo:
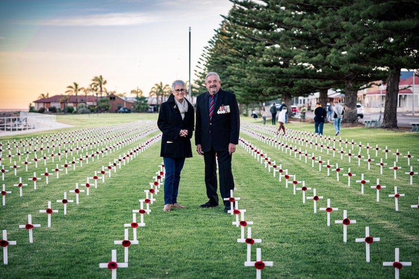
[{"label": "long low red-roofed house behind palms, left of the brick gable", "polygon": [[[67,106],[76,107],[76,96],[73,95],[64,95],[68,97]],[[95,96],[87,96],[87,106],[96,106],[97,97]],[[77,96],[77,105],[81,103],[86,104],[86,95],[78,95]],[[40,108],[44,108],[48,110],[50,107],[56,107],[57,109],[64,110],[64,100],[62,95],[55,95],[50,98],[42,98],[37,99],[34,101],[35,110],[39,110]]]}]

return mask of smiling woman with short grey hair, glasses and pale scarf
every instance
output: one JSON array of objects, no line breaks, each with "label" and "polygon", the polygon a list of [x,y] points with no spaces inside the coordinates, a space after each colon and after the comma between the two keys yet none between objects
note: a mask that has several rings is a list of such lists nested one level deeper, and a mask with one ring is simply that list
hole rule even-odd
[{"label": "smiling woman with short grey hair, glasses and pale scarf", "polygon": [[192,157],[191,138],[194,130],[194,112],[192,104],[184,98],[185,82],[172,84],[172,95],[162,103],[158,114],[157,126],[163,132],[160,156],[166,169],[164,179],[164,208],[186,208],[177,203],[180,172],[185,158]]}]

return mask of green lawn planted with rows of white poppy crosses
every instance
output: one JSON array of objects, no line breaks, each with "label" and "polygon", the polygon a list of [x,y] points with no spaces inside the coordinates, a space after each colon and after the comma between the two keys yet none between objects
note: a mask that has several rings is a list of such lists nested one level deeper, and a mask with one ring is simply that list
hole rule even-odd
[{"label": "green lawn planted with rows of white poppy crosses", "polygon": [[[152,121],[150,121],[152,120]],[[8,246],[8,265],[1,265],[0,278],[110,278],[107,268],[99,268],[99,263],[108,263],[111,260],[111,250],[117,249],[118,262],[124,259],[123,247],[114,245],[115,240],[123,240],[124,224],[132,222],[132,210],[140,209],[139,199],[145,198],[144,190],[149,189],[150,182],[154,181],[156,172],[162,158],[159,157],[160,142],[158,139],[147,144],[148,148],[136,155],[136,158],[126,162],[116,173],[111,173],[111,178],[105,174],[105,182],[98,181],[97,189],[89,188],[89,196],[80,193],[80,203],[75,204],[75,194],[69,193],[74,190],[75,183],[79,188],[87,190],[84,185],[87,177],[93,177],[95,171],[102,170],[109,162],[137,147],[144,147],[146,142],[159,134],[156,128],[157,114],[100,114],[100,115],[60,115],[57,121],[74,125],[73,129],[48,131],[39,134],[27,134],[14,137],[2,137],[1,164],[5,173],[7,191],[6,205],[0,206],[0,228],[7,230],[7,238],[17,241],[17,245]],[[123,123],[131,123],[122,125]],[[407,165],[407,151],[414,156],[410,164],[414,171],[419,171],[419,133],[386,131],[384,129],[366,129],[364,127],[342,128],[341,137],[348,139],[349,146],[354,142],[351,153],[351,163],[348,156],[344,155],[341,160],[340,154],[329,154],[326,148],[320,151],[320,144],[333,145],[333,141],[323,141],[317,137],[317,150],[314,146],[304,142],[297,143],[297,138],[304,137],[315,142],[315,138],[305,135],[304,132],[313,132],[313,123],[299,123],[291,121],[286,125],[287,134],[295,135],[295,138],[274,138],[269,133],[272,125],[261,125],[262,120],[253,120],[250,117],[242,118],[241,140],[257,148],[275,161],[282,169],[287,169],[289,175],[296,175],[297,181],[305,181],[306,187],[316,188],[316,194],[323,196],[317,201],[317,213],[314,214],[313,200],[302,203],[302,192],[297,191],[293,195],[293,184],[285,187],[285,179],[279,182],[278,173],[273,177],[273,172],[268,172],[265,164],[254,158],[244,148],[237,148],[233,154],[232,168],[235,180],[235,197],[239,209],[245,209],[245,220],[253,222],[248,225],[252,228],[252,238],[262,239],[262,243],[252,246],[252,261],[256,259],[256,248],[262,248],[262,260],[272,261],[273,266],[266,266],[262,270],[262,278],[393,278],[394,268],[383,266],[383,262],[393,262],[395,248],[400,248],[400,261],[412,262],[412,266],[403,266],[400,270],[401,278],[419,278],[419,211],[411,208],[418,204],[419,176],[413,176],[413,185],[410,185],[410,176],[405,172],[410,170]],[[269,123],[269,121],[267,121]],[[105,129],[98,129],[105,127]],[[91,129],[89,129],[91,128]],[[95,128],[95,129],[93,129]],[[82,130],[83,129],[83,130]],[[80,146],[87,144],[87,154],[94,153],[97,148],[102,150],[110,142],[113,144],[125,141],[124,146],[118,145],[118,150],[100,154],[94,162],[83,162],[74,171],[69,167],[68,175],[61,171],[57,180],[55,173],[49,176],[49,184],[45,183],[42,176],[37,181],[37,189],[34,190],[32,178],[33,172],[37,175],[45,172],[43,162],[29,164],[28,172],[25,167],[17,169],[14,176],[13,168],[10,168],[7,142],[38,136],[50,138],[51,135],[60,132],[77,131],[85,133],[79,138]],[[109,133],[105,133],[109,131]],[[293,134],[293,131],[295,133]],[[324,134],[334,134],[331,124],[326,124]],[[301,132],[301,133],[297,133]],[[103,134],[105,133],[105,134]],[[142,138],[136,135],[144,133]],[[147,134],[145,134],[147,133]],[[255,136],[255,134],[257,136]],[[113,137],[114,136],[114,137]],[[275,147],[263,143],[264,138],[274,138],[280,143],[297,147],[303,153],[307,150],[307,164],[304,156],[299,160],[290,148]],[[89,137],[89,138],[87,138]],[[333,139],[333,136],[331,136]],[[103,144],[94,145],[90,149],[89,143],[102,139]],[[42,139],[44,140],[44,139]],[[362,158],[358,166],[360,144]],[[193,141],[192,141],[193,144]],[[371,159],[370,170],[367,169],[368,144]],[[44,149],[47,143],[43,143]],[[379,150],[375,156],[375,147],[391,150],[388,159],[385,160],[384,152]],[[41,144],[38,144],[38,149]],[[341,148],[348,152],[345,143],[335,143],[335,148]],[[57,148],[57,147],[56,147]],[[113,148],[116,149],[116,148]],[[192,149],[194,149],[192,147]],[[397,180],[394,179],[393,166],[396,149],[402,155],[397,165],[401,167],[397,171]],[[50,149],[48,149],[50,151]],[[16,150],[15,150],[16,151]],[[15,152],[14,151],[14,152]],[[7,152],[7,153],[6,153]],[[17,151],[16,151],[17,152]],[[40,157],[39,150],[38,158]],[[55,149],[55,154],[58,152]],[[312,167],[312,153],[316,163]],[[51,152],[49,152],[51,154]],[[83,149],[86,154],[86,148]],[[34,153],[30,154],[33,158]],[[97,156],[97,154],[96,154]],[[336,172],[331,171],[327,176],[327,169],[322,167],[319,172],[318,157],[326,164],[338,163],[341,168],[339,181],[336,180]],[[80,155],[74,156],[76,158]],[[14,157],[13,160],[17,160]],[[376,163],[380,159],[387,163],[380,175],[380,168]],[[58,163],[58,157],[54,156],[54,164],[47,161],[50,172]],[[69,162],[70,157],[68,158]],[[43,160],[40,160],[43,161]],[[60,165],[64,164],[64,155],[61,156]],[[351,178],[351,187],[348,187],[348,178],[342,176],[348,172],[348,168],[356,176]],[[333,167],[332,167],[333,168]],[[156,201],[150,205],[152,210],[149,215],[144,214],[145,227],[138,227],[138,240],[140,245],[129,247],[128,268],[118,268],[119,278],[255,278],[256,269],[245,267],[246,245],[238,243],[241,238],[241,228],[232,225],[236,216],[223,213],[223,207],[201,209],[199,204],[208,199],[204,184],[203,158],[196,153],[194,157],[187,159],[182,171],[178,201],[186,205],[186,209],[173,209],[171,212],[163,212],[163,187],[154,196]],[[361,195],[361,174],[369,180],[365,184],[365,193]],[[18,187],[13,184],[22,177],[23,197],[19,197]],[[376,179],[385,185],[380,191],[380,202],[376,202],[376,190],[370,186],[376,185]],[[91,183],[91,180],[90,180]],[[297,184],[300,187],[301,184]],[[394,194],[394,186],[398,192],[404,194],[400,197],[399,211],[395,210],[395,198],[388,197]],[[63,204],[57,203],[67,192],[68,199],[74,199],[74,203],[67,204],[67,215],[63,214]],[[306,192],[306,197],[313,196],[313,190]],[[338,211],[331,212],[331,226],[328,227],[327,213],[319,211],[320,207],[327,207],[327,199],[331,199],[331,207]],[[59,210],[52,213],[52,226],[47,227],[47,214],[39,213],[45,210],[48,201],[52,201],[52,209]],[[352,221],[348,226],[348,242],[343,242],[343,225],[335,224],[335,220],[343,219],[343,211],[348,211],[348,218]],[[19,225],[27,223],[28,214],[32,214],[32,223],[41,224],[40,228],[33,229],[34,243],[29,243],[29,234],[25,229],[19,229]],[[356,223],[353,223],[356,220]],[[137,213],[137,222],[140,222],[140,213]],[[368,226],[370,235],[380,237],[380,242],[374,242],[370,246],[371,262],[366,262],[365,243],[356,243],[355,238],[365,237],[365,227]],[[246,235],[246,228],[244,228]],[[129,228],[129,238],[133,240],[133,230]]]}]

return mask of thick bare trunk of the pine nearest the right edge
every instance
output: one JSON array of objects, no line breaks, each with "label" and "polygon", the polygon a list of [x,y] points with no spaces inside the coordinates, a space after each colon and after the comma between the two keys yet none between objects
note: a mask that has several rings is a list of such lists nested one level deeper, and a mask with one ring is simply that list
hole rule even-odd
[{"label": "thick bare trunk of the pine nearest the right edge", "polygon": [[399,95],[400,72],[401,68],[394,68],[388,74],[382,125],[384,128],[399,128],[397,126],[397,98]]}]

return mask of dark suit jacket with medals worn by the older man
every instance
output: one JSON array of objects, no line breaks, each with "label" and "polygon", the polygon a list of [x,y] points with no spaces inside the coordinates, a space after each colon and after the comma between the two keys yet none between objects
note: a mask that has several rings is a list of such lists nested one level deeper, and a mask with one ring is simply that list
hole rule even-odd
[{"label": "dark suit jacket with medals worn by the older man", "polygon": [[[215,151],[228,151],[228,144],[239,143],[240,115],[236,95],[220,89],[214,114],[210,123],[208,111],[209,92],[196,98],[195,145],[200,144],[202,151],[208,152],[211,145]],[[224,106],[229,106],[230,112],[219,114]]]}]

